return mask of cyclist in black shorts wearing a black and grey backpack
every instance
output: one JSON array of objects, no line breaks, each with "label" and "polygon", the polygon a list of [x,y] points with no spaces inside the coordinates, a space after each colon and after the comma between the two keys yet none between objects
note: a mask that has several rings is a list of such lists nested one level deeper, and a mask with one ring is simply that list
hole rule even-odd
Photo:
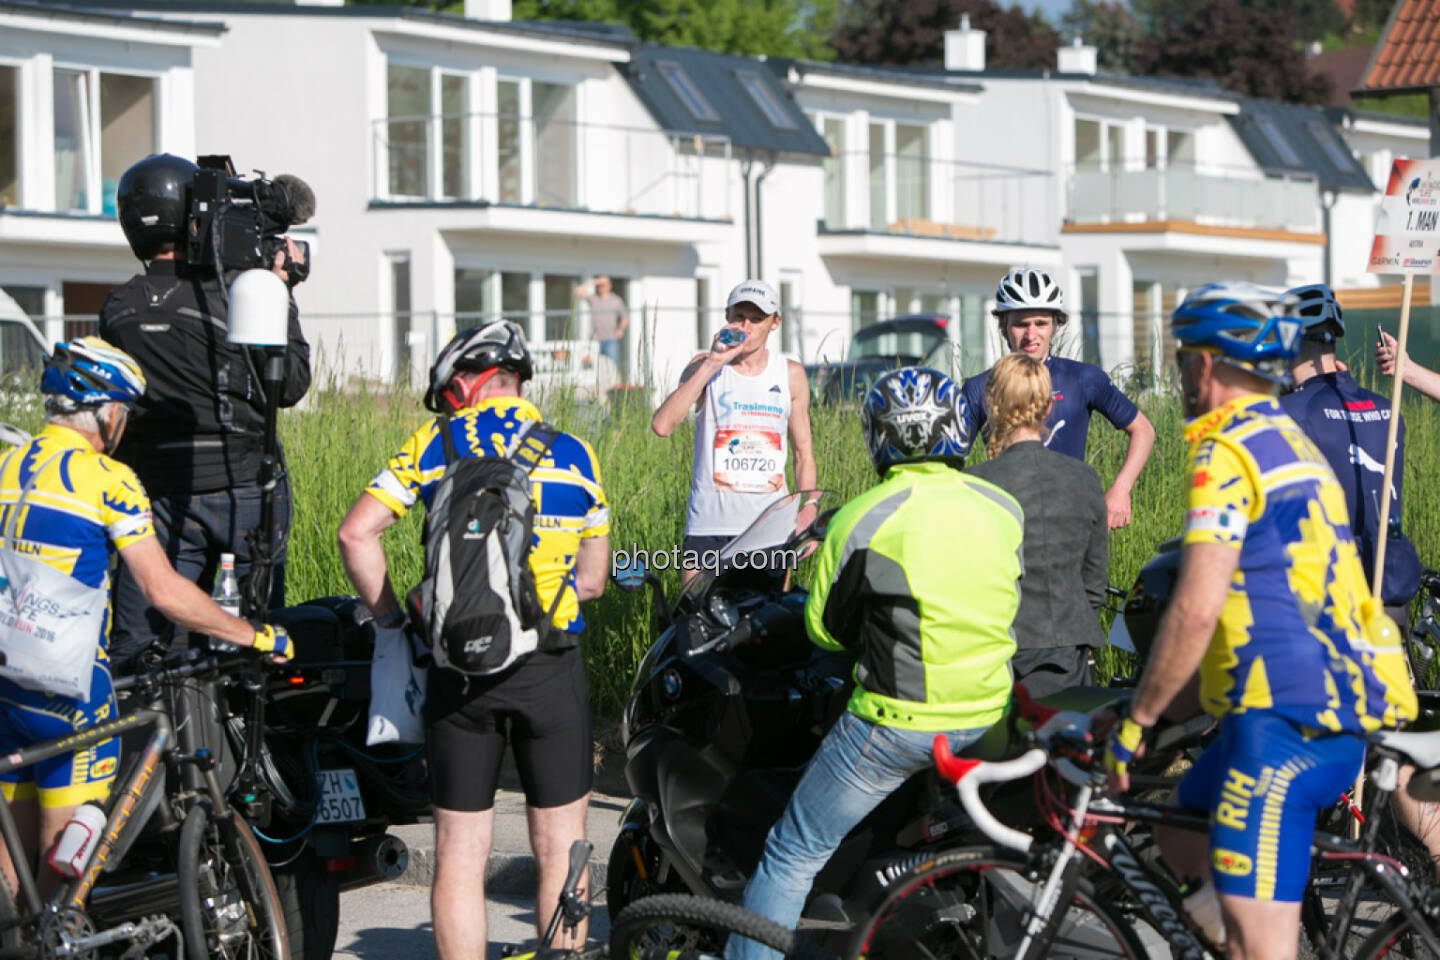
[{"label": "cyclist in black shorts wearing a black and grey backpack", "polygon": [[[340,524],[346,573],[380,629],[405,626],[380,534],[416,502],[429,508],[445,474],[439,430],[451,430],[458,456],[504,455],[527,420],[540,420],[540,412],[521,396],[531,376],[524,332],[510,321],[461,331],[436,357],[425,406],[441,416],[405,442]],[[605,590],[609,507],[595,453],[567,433],[556,435],[530,474],[530,488],[536,508],[530,569],[540,606],[549,609],[559,599],[553,615],[559,635],[497,674],[429,671],[425,746],[435,802],[431,911],[441,960],[485,956],[485,861],[507,741],[526,792],[539,904],[559,901],[570,845],[585,839],[593,763],[579,649],[585,629],[580,603]],[[536,911],[541,936],[547,920],[549,908]],[[557,946],[582,944],[585,933],[580,924]]]}]

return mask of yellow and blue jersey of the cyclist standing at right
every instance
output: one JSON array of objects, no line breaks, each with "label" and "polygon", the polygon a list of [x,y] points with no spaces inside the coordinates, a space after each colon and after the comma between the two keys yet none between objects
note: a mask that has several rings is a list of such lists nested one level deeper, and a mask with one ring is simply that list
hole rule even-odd
[{"label": "yellow and blue jersey of the cyclist standing at right", "polygon": [[1395,633],[1380,642],[1345,491],[1323,455],[1261,394],[1194,420],[1185,544],[1240,551],[1201,662],[1217,717],[1274,711],[1316,731],[1413,720],[1416,692]]}]

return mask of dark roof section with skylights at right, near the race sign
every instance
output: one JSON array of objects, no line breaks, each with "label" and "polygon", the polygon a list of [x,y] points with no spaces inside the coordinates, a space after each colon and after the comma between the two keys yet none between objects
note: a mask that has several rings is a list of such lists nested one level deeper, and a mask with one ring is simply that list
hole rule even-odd
[{"label": "dark roof section with skylights at right, near the race sign", "polygon": [[1375,190],[1323,108],[1247,99],[1225,119],[1266,173],[1310,174],[1322,190]]}]

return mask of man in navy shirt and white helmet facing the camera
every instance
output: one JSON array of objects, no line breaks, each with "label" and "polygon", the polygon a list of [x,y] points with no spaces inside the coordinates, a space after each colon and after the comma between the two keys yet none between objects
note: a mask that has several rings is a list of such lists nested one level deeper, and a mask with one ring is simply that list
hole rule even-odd
[{"label": "man in navy shirt and white helmet facing the camera", "polygon": [[[1050,356],[1050,340],[1066,322],[1064,292],[1050,273],[1037,268],[1017,268],[1002,276],[995,289],[995,317],[1011,353],[1020,351],[1043,358],[1050,370],[1056,402],[1050,416],[1045,417],[1050,430],[1045,446],[1083,461],[1092,410],[1099,410],[1115,429],[1130,435],[1125,463],[1115,475],[1110,489],[1104,492],[1106,521],[1110,530],[1129,525],[1130,489],[1145,469],[1151,448],[1155,446],[1155,427],[1139,407],[1110,383],[1103,370],[1094,364]],[[962,387],[971,436],[979,436],[981,427],[989,417],[985,407],[988,377],[989,370],[978,373]]]}]

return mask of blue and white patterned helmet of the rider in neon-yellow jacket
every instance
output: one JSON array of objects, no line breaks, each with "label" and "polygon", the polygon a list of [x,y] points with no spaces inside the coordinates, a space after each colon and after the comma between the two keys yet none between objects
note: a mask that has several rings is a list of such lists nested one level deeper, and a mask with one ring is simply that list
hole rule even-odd
[{"label": "blue and white patterned helmet of the rider in neon-yellow jacket", "polygon": [[876,380],[860,429],[878,474],[907,461],[963,461],[971,452],[960,387],[929,367],[901,367]]}]

